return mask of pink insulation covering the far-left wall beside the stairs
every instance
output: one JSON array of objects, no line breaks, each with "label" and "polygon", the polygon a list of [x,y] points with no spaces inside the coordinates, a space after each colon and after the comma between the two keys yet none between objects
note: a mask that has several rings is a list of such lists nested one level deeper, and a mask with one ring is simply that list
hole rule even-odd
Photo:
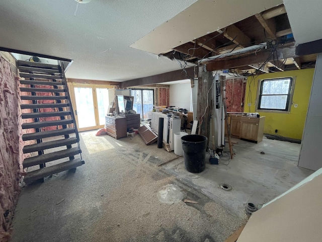
[{"label": "pink insulation covering the far-left wall beside the stairs", "polygon": [[[20,191],[22,162],[26,157],[22,151],[18,81],[11,72],[11,64],[0,56],[0,241],[9,239],[10,222]],[[32,130],[24,130],[27,132]]]}]

